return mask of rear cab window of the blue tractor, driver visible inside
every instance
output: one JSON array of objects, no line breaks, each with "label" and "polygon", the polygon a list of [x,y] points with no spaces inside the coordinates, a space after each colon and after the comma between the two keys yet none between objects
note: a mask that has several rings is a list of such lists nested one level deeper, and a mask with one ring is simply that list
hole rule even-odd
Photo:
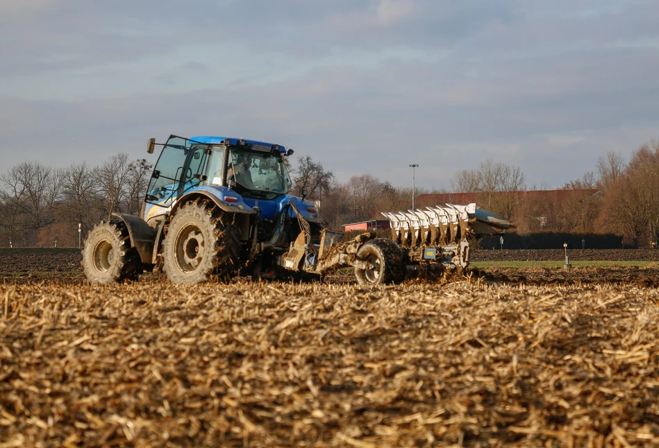
[{"label": "rear cab window of the blue tractor, driver visible inside", "polygon": [[235,180],[239,193],[274,198],[288,192],[292,182],[281,157],[234,148],[230,155],[226,180]]}]

